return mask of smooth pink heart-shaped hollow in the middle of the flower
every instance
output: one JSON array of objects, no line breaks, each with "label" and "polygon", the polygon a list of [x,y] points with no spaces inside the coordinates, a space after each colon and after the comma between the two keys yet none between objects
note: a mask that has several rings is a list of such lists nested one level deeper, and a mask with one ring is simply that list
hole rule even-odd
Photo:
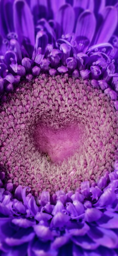
[{"label": "smooth pink heart-shaped hollow in the middle of the flower", "polygon": [[55,129],[47,124],[39,123],[35,131],[35,144],[40,152],[48,154],[54,162],[63,162],[81,147],[83,130],[78,123],[68,124]]}]

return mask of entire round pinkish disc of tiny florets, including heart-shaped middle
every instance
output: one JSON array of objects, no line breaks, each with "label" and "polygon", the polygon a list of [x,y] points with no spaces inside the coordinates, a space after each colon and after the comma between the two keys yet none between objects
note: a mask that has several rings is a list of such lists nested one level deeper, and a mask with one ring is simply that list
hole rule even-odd
[{"label": "entire round pinkish disc of tiny florets, including heart-shaped middle", "polygon": [[3,96],[0,160],[10,184],[32,192],[75,190],[117,159],[117,111],[90,82],[43,74]]}]

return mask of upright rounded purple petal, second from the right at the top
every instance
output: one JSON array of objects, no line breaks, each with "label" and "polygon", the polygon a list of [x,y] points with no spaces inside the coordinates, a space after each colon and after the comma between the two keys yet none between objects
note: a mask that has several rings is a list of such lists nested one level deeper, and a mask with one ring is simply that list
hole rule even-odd
[{"label": "upright rounded purple petal, second from the right at the top", "polygon": [[96,27],[95,16],[91,11],[84,11],[77,20],[75,42],[77,52],[86,52],[93,38]]}]

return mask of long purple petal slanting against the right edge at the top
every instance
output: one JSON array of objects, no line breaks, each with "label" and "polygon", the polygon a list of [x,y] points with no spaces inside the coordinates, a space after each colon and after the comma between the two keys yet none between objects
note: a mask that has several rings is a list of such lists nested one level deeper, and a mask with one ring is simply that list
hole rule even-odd
[{"label": "long purple petal slanting against the right edge at the top", "polygon": [[105,9],[101,12],[101,15],[102,22],[99,31],[96,35],[96,38],[94,40],[94,44],[108,42],[118,22],[117,9],[113,6],[105,7]]}]

